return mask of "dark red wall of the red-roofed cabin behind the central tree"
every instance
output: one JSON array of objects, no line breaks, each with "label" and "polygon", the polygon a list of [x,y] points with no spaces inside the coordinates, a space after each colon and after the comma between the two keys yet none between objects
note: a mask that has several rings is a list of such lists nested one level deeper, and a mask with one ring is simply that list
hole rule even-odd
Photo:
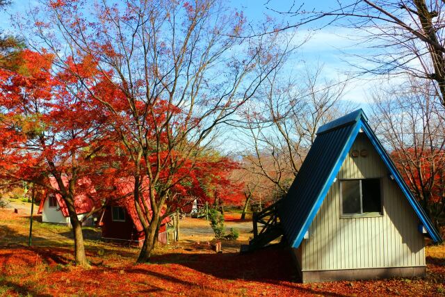
[{"label": "dark red wall of the red-roofed cabin behind the central tree", "polygon": [[[121,207],[124,211],[124,216],[120,216],[115,209],[115,216],[113,216],[113,207],[106,207],[104,216],[102,217],[100,227],[102,228],[102,239],[106,241],[115,241],[116,243],[131,244],[132,246],[142,246],[144,240],[144,233],[138,232],[131,216],[127,209]],[[159,242],[167,243],[165,224],[161,225],[159,230]]]}]

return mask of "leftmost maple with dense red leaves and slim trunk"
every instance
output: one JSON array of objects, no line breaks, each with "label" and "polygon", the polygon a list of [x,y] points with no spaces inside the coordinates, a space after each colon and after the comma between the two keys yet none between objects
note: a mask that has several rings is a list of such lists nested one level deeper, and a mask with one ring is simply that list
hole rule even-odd
[{"label": "leftmost maple with dense red leaves and slim trunk", "polygon": [[[88,93],[75,77],[51,74],[52,55],[24,50],[19,61],[17,72],[0,70],[0,177],[38,184],[63,198],[75,261],[86,265],[76,194],[90,191],[92,180],[99,182],[90,177],[99,170],[97,154],[110,141],[106,113],[88,102]],[[87,75],[88,65],[80,66]],[[55,179],[54,186],[50,179]],[[99,200],[93,196],[88,195]]]}]

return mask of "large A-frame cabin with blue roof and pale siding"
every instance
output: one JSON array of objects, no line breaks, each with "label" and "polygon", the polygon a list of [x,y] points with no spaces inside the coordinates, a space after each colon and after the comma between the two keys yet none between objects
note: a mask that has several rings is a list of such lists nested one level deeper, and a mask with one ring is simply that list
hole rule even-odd
[{"label": "large A-frame cabin with blue roof and pale siding", "polygon": [[302,282],[425,275],[424,237],[442,241],[361,109],[318,129],[274,208],[250,248],[281,230]]}]

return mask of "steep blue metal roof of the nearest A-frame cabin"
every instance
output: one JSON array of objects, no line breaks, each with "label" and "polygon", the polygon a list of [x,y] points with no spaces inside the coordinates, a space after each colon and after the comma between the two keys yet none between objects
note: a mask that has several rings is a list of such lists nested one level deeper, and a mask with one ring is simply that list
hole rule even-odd
[{"label": "steep blue metal roof of the nearest A-frame cabin", "polygon": [[402,192],[426,227],[432,240],[435,242],[442,241],[439,233],[435,230],[419,202],[412,195],[386,150],[369,127],[367,120],[363,110],[359,109],[318,129],[314,144],[279,209],[284,234],[293,248],[300,246],[360,129],[364,131],[374,145],[375,150],[391,175],[394,176],[398,186],[401,187]]}]

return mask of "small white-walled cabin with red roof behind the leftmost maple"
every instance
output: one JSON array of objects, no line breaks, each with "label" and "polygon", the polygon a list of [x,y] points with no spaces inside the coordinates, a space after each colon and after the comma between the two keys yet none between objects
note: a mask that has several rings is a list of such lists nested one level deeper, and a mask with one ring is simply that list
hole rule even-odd
[{"label": "small white-walled cabin with red roof behind the leftmost maple", "polygon": [[[67,185],[67,178],[62,177],[62,179],[63,183]],[[53,188],[58,189],[58,184],[54,177],[50,177],[49,182]],[[77,217],[79,220],[84,220],[82,223],[84,226],[94,225],[92,216],[86,220],[85,217],[93,209],[93,207],[96,209],[101,207],[100,201],[95,199],[94,187],[90,187],[88,184],[90,184],[89,180],[83,182],[80,181],[80,186],[87,186],[87,188],[90,188],[90,190],[75,195],[74,197],[74,206],[76,207]],[[60,194],[49,193],[48,195],[44,196],[44,198],[40,201],[38,214],[42,214],[42,222],[44,223],[71,225],[67,205]]]}]

